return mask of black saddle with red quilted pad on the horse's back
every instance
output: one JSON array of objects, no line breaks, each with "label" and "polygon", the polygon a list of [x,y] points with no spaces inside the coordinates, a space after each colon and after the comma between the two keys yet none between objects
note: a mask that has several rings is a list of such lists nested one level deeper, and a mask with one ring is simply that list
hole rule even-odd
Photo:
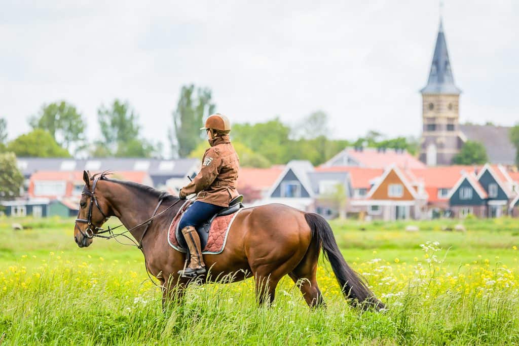
[{"label": "black saddle with red quilted pad on the horse's back", "polygon": [[[216,213],[206,223],[196,229],[198,236],[200,237],[200,245],[202,247],[202,253],[216,254],[223,251],[225,246],[225,240],[227,238],[227,232],[230,229],[230,225],[234,220],[234,217],[240,209],[243,208],[243,195],[239,195],[229,202],[229,206],[220,212]],[[186,203],[181,208],[182,216],[187,211],[191,203]],[[182,230],[179,229],[180,220],[182,217],[175,217],[171,223],[168,240],[170,245],[181,252],[187,252],[187,244],[182,234]],[[172,229],[173,228],[173,229]],[[173,233],[173,234],[171,234]],[[174,237],[172,237],[174,235]]]}]

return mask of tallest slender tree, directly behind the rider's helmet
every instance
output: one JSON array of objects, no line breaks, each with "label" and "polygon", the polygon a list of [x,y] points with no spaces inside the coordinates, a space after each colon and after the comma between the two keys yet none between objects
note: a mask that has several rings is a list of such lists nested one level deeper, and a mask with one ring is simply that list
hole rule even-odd
[{"label": "tallest slender tree, directly behind the rider's helmet", "polygon": [[179,102],[173,112],[173,129],[170,129],[169,140],[172,152],[179,157],[186,157],[202,142],[203,120],[213,114],[215,105],[211,100],[211,90],[195,86],[183,86]]}]

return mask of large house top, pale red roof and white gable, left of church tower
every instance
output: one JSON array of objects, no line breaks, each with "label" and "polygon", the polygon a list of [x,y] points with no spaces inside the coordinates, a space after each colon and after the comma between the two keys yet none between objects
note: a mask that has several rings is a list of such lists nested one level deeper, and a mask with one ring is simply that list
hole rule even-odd
[{"label": "large house top, pale red roof and white gable, left of church tower", "polygon": [[389,148],[346,148],[325,162],[322,166],[353,166],[386,169],[392,164],[401,169],[420,169],[426,167],[424,163],[407,153],[406,150]]}]

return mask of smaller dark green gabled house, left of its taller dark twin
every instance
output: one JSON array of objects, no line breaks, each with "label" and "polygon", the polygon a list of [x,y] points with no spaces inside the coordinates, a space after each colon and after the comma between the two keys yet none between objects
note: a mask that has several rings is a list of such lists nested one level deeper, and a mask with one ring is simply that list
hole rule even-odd
[{"label": "smaller dark green gabled house, left of its taller dark twin", "polygon": [[449,192],[452,216],[464,218],[469,214],[487,216],[488,195],[473,173],[462,172],[458,182]]}]

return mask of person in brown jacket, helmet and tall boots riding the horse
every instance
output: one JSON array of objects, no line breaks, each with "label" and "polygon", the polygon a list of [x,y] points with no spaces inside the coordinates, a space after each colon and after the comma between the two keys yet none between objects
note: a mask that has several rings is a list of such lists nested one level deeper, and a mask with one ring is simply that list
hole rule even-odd
[{"label": "person in brown jacket, helmet and tall boots riding the horse", "polygon": [[206,130],[211,147],[202,158],[202,168],[192,182],[179,191],[179,197],[185,199],[192,193],[198,193],[196,201],[182,216],[180,229],[189,248],[189,266],[179,273],[183,276],[200,275],[206,272],[202,258],[200,238],[196,227],[229,206],[229,202],[238,196],[236,181],[240,168],[238,154],[230,144],[230,121],[223,114],[213,114],[206,120]]}]

